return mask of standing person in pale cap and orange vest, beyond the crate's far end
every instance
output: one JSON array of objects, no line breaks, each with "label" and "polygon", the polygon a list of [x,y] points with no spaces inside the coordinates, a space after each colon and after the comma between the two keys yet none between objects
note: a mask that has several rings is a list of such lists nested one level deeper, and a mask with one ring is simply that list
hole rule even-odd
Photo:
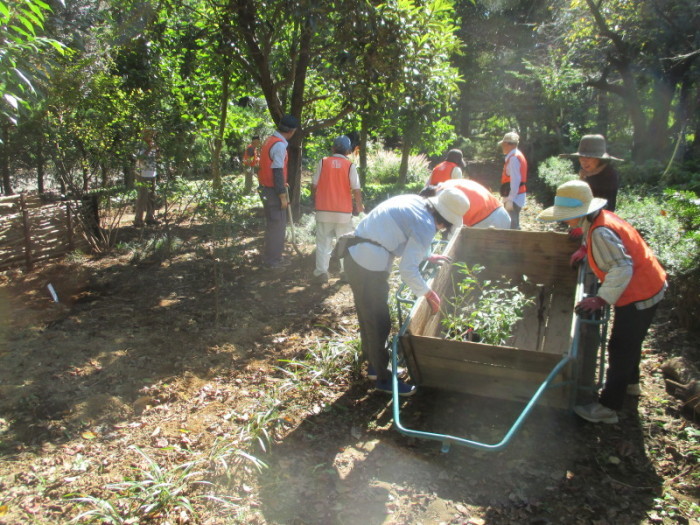
[{"label": "standing person in pale cap and orange vest, beyond the crate's far end", "polygon": [[520,229],[520,210],[525,206],[527,160],[518,149],[520,135],[511,131],[503,136],[501,150],[506,156],[501,173],[503,206],[510,215],[511,230]]}]

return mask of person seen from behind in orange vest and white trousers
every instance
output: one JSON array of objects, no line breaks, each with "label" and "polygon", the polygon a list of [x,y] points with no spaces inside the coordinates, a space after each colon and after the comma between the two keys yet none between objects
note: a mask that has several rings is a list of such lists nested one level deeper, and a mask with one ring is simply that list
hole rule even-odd
[{"label": "person seen from behind in orange vest and white trousers", "polygon": [[[317,282],[328,281],[328,265],[333,251],[333,238],[353,230],[353,213],[364,211],[360,177],[355,164],[347,158],[352,150],[345,135],[333,141],[333,155],[321,159],[311,180],[316,207],[316,269]],[[353,207],[353,199],[355,204]],[[342,275],[343,261],[340,261]]]}]

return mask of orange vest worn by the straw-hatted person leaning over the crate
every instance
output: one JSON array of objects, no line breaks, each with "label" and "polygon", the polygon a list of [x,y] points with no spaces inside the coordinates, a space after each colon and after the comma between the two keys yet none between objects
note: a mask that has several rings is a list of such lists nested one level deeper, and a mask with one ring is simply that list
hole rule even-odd
[{"label": "orange vest worn by the straw-hatted person leaning over the crate", "polygon": [[625,306],[637,301],[645,301],[659,293],[661,288],[663,288],[664,282],[666,282],[666,272],[659,264],[659,261],[656,260],[656,257],[654,257],[651,248],[644,242],[637,230],[613,212],[607,210],[602,210],[593,221],[590,230],[588,230],[586,241],[588,246],[588,264],[598,277],[598,280],[604,282],[606,274],[598,268],[593,258],[591,235],[593,230],[601,226],[614,231],[622,239],[622,244],[627,254],[632,257],[632,280],[630,280],[625,291],[622,292],[615,306]]}]

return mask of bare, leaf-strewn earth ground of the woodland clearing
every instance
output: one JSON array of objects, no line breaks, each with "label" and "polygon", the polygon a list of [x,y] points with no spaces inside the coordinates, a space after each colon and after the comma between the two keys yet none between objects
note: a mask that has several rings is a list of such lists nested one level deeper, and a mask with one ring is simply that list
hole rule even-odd
[{"label": "bare, leaf-strewn earth ground of the woodland clearing", "polygon": [[[0,276],[0,523],[68,523],[101,500],[115,512],[96,523],[700,523],[698,422],[660,371],[672,356],[698,362],[698,338],[668,309],[618,424],[537,407],[501,451],[442,453],[392,428],[390,396],[358,367],[290,379],[289,361],[357,338],[349,286],[312,282],[313,246],[270,275],[260,229],[223,261],[202,255],[207,232],[180,228],[163,263],[122,253]],[[521,409],[422,390],[402,410],[497,442]]]}]

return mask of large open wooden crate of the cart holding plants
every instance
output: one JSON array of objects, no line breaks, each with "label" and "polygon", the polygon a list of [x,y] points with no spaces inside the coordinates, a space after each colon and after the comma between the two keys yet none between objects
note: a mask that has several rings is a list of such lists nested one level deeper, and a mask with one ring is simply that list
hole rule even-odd
[{"label": "large open wooden crate of the cart holding plants", "polygon": [[[444,339],[440,316],[432,315],[425,299],[420,299],[401,337],[412,379],[420,386],[529,401],[571,351],[577,281],[577,272],[569,267],[571,242],[565,234],[553,232],[463,228],[445,251],[470,267],[485,266],[480,280],[505,276],[517,282],[526,275],[528,287],[538,290],[536,304],[514,327],[508,346],[493,346]],[[454,266],[444,266],[433,280],[443,305],[454,293],[456,272]],[[557,381],[570,380],[574,366],[568,366]],[[573,390],[571,385],[551,389],[542,402],[566,407]]]}]

